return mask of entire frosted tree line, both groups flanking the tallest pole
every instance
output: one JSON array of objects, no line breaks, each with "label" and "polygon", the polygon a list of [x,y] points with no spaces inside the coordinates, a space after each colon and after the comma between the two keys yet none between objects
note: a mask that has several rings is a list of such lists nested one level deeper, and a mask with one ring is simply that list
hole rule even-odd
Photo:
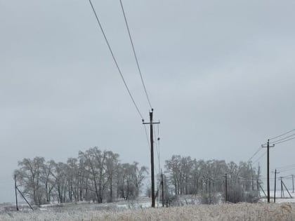
[{"label": "entire frosted tree line, both groups flanking the tallest pole", "polygon": [[[148,175],[146,166],[137,162],[121,163],[119,154],[93,147],[79,152],[67,162],[46,161],[44,157],[22,159],[15,170],[18,187],[35,205],[58,201],[112,202],[114,199],[135,199],[143,189]],[[258,192],[260,168],[251,162],[239,164],[224,160],[197,160],[190,156],[173,155],[165,161],[164,195],[199,194],[214,196],[225,190],[225,174],[229,192],[242,189]],[[147,187],[150,196],[150,188]],[[155,193],[161,196],[160,192]],[[232,193],[235,196],[237,193]]]}]

